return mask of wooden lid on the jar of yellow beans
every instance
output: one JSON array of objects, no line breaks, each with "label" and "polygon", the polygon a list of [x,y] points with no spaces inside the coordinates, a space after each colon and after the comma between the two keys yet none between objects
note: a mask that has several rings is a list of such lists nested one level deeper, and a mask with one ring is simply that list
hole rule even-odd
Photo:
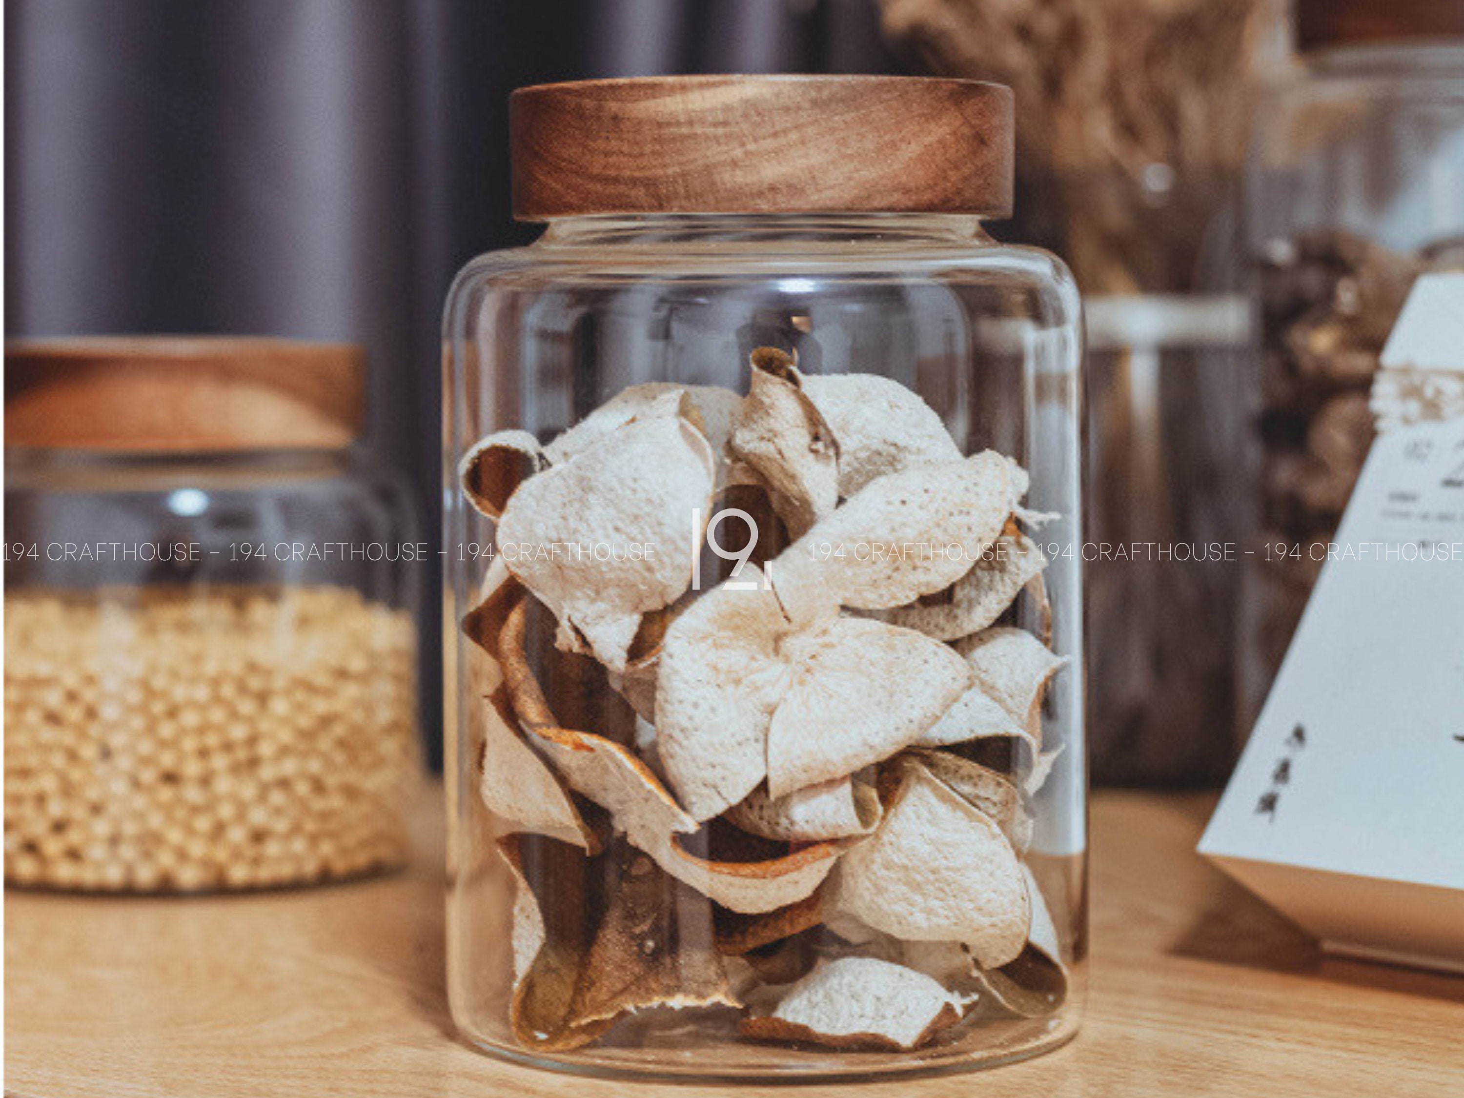
[{"label": "wooden lid on the jar of yellow beans", "polygon": [[4,442],[113,451],[337,449],[360,436],[360,347],[233,337],[18,340]]}]

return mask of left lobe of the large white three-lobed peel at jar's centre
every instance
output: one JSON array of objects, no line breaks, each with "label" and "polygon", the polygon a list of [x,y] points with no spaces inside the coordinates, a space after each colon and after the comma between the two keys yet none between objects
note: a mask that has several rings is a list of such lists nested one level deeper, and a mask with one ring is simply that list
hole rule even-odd
[{"label": "left lobe of the large white three-lobed peel at jar's centre", "polygon": [[736,804],[767,774],[767,725],[786,669],[789,625],[755,565],[751,590],[722,584],[666,631],[656,679],[656,733],[672,788],[697,820]]}]

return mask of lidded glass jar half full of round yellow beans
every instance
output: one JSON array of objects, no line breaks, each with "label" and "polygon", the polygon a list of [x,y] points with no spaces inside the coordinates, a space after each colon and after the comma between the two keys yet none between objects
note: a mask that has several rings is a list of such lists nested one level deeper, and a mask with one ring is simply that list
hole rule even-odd
[{"label": "lidded glass jar half full of round yellow beans", "polygon": [[394,865],[414,558],[356,347],[6,347],[6,881],[303,884]]}]

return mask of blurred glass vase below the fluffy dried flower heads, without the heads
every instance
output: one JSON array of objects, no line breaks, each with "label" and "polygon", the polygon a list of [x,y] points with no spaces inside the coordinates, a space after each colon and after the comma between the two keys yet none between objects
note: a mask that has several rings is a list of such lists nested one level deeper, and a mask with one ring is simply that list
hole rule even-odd
[{"label": "blurred glass vase below the fluffy dried flower heads, without the heads", "polygon": [[1073,264],[1086,315],[1092,780],[1217,786],[1239,754],[1239,561],[1255,464],[1239,170],[1072,171],[1031,193],[1020,231]]}]

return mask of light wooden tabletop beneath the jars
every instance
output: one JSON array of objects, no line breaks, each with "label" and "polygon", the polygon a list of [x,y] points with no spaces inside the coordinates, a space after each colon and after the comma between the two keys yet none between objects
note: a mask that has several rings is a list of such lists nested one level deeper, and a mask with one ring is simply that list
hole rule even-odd
[{"label": "light wooden tabletop beneath the jars", "polygon": [[[791,1094],[1464,1094],[1464,979],[1319,957],[1193,854],[1211,807],[1193,795],[1095,798],[1092,982],[1073,1044],[979,1078]],[[454,1039],[439,817],[427,798],[413,870],[359,884],[193,900],[7,893],[7,1092],[625,1094]]]}]

